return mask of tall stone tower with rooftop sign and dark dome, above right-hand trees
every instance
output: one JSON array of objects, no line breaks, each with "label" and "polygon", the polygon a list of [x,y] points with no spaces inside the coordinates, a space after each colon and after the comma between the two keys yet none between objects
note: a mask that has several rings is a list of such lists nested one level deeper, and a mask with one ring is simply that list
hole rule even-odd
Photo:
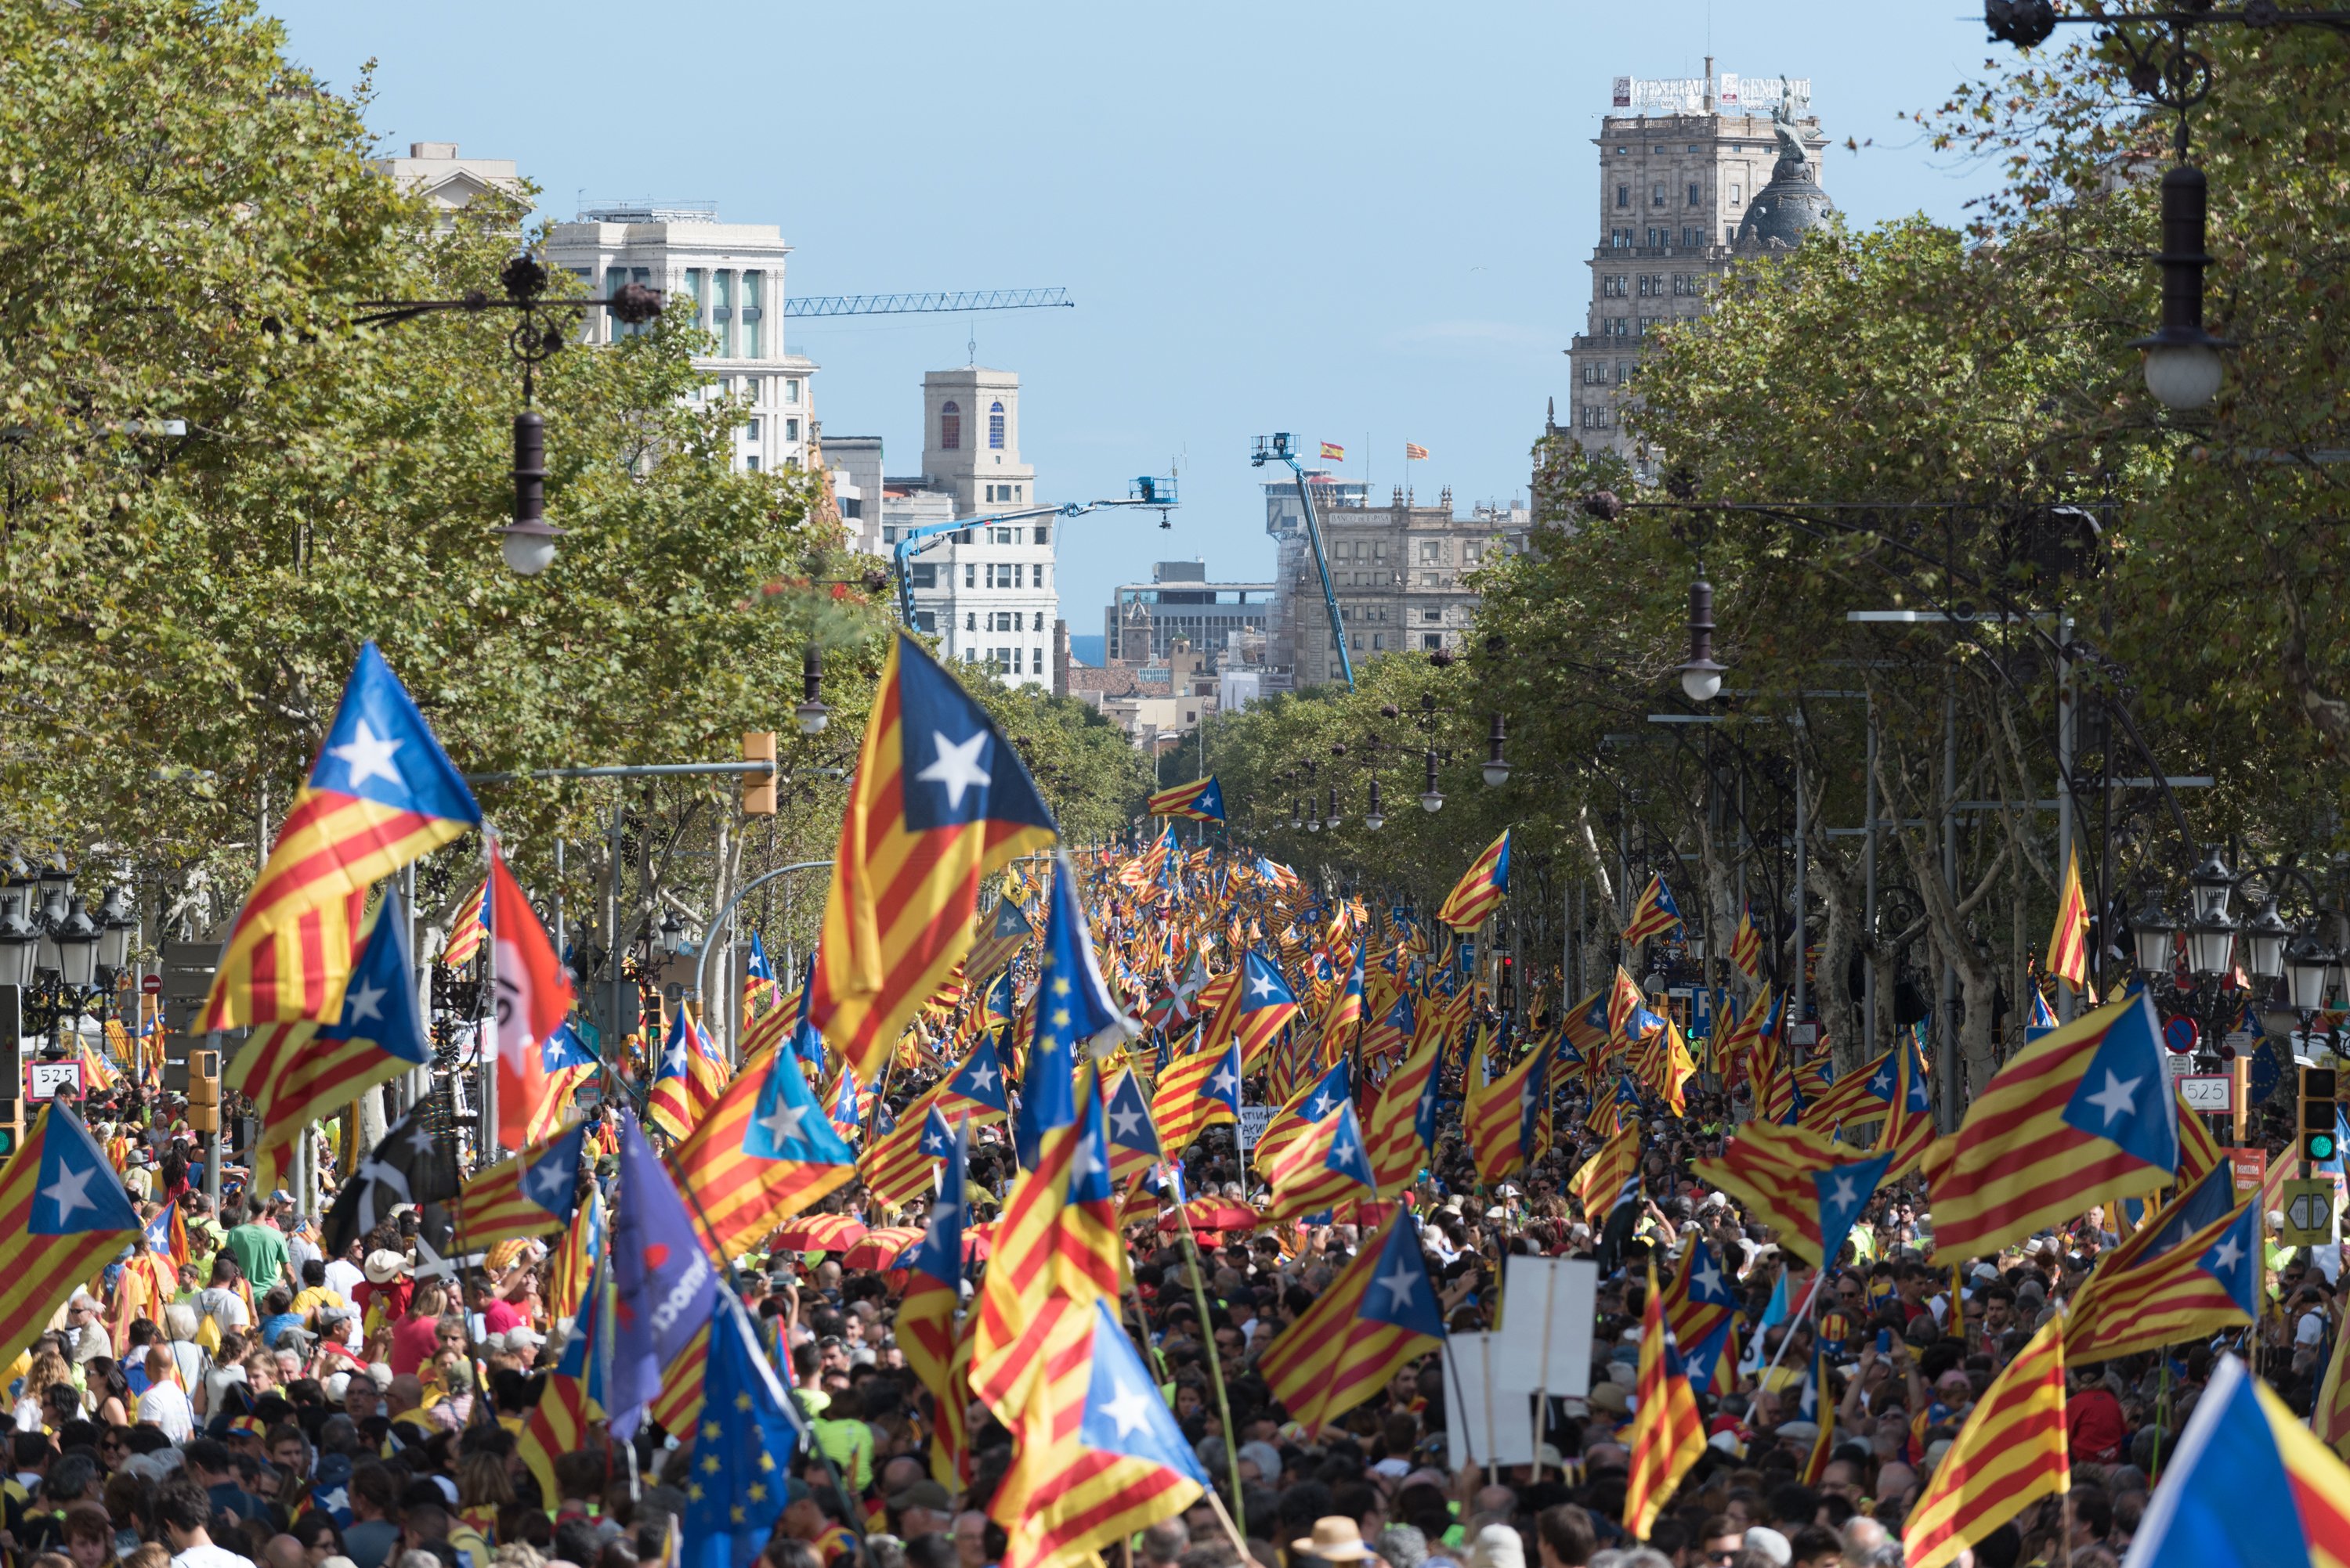
[{"label": "tall stone tower with rooftop sign and dark dome, above right-hand trees", "polygon": [[1732,263],[1802,244],[1833,211],[1821,188],[1828,141],[1810,92],[1807,80],[1716,77],[1711,56],[1704,77],[1617,77],[1617,113],[1593,138],[1591,305],[1567,345],[1567,427],[1584,448],[1640,462],[1624,408],[1650,340],[1706,315]]}]

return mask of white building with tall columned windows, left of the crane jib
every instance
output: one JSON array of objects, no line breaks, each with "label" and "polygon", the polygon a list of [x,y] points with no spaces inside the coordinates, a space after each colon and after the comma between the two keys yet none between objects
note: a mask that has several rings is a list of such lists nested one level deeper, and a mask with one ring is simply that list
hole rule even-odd
[{"label": "white building with tall columned windows, left of the crane jib", "polygon": [[[548,265],[569,270],[590,293],[609,298],[644,284],[672,307],[679,298],[693,303],[693,319],[717,338],[714,352],[693,359],[710,378],[703,397],[743,404],[733,465],[768,472],[806,467],[815,423],[815,361],[783,343],[790,251],[780,225],[719,223],[707,207],[599,207],[550,225],[545,246]],[[590,312],[590,343],[646,331],[604,317]]]}]

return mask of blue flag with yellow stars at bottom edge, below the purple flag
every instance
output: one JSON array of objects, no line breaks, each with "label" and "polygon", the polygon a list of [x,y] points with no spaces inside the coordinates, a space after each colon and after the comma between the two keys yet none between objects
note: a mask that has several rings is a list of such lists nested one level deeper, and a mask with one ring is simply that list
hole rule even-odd
[{"label": "blue flag with yellow stars at bottom edge, below the purple flag", "polygon": [[783,1460],[806,1427],[731,1291],[710,1319],[703,1420],[686,1479],[682,1568],[747,1568],[785,1505]]}]

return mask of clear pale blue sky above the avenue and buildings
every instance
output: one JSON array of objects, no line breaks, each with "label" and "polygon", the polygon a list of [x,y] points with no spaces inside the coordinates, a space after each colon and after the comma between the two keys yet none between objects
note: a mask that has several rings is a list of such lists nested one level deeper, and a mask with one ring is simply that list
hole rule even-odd
[{"label": "clear pale blue sky above the avenue and buildings", "polygon": [[[1180,465],[1184,507],[1062,545],[1062,615],[1206,556],[1271,570],[1250,439],[1342,441],[1377,493],[1523,495],[1582,322],[1591,136],[1614,75],[1810,75],[1859,223],[1958,218],[1990,171],[1920,146],[1990,47],[1974,0],[1187,0],[663,7],[275,0],[291,54],[376,61],[385,150],[512,157],[578,197],[714,200],[780,223],[792,293],[1065,284],[1076,310],[794,322],[832,434],[921,458],[926,369],[1022,378],[1050,500]],[[1854,136],[1866,146],[1847,153]]]}]

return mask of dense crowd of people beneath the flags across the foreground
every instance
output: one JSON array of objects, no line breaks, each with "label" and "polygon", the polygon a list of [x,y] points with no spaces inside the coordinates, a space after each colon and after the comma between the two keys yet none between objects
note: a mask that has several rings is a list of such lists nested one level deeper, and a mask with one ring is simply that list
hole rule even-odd
[{"label": "dense crowd of people beneath the flags across the foreground", "polygon": [[[912,1096],[916,1077],[893,1094]],[[1511,1253],[1603,1256],[1589,1390],[1544,1408],[1535,1465],[1462,1462],[1448,1444],[1445,1361],[1401,1371],[1330,1430],[1307,1432],[1257,1366],[1377,1235],[1349,1225],[1227,1228],[1156,1214],[1128,1230],[1126,1317],[1217,1498],[1130,1542],[1152,1568],[1375,1563],[1384,1568],[1892,1568],[1901,1526],[1990,1378],[2115,1244],[2099,1211],[1990,1258],[1932,1256],[1925,1190],[1880,1190],[1824,1275],[1784,1253],[1692,1162],[1744,1113],[1694,1094],[1647,1106],[1640,1216],[1603,1237],[1570,1176],[1596,1148],[1586,1106],[1558,1108],[1556,1148],[1483,1185],[1448,1084],[1426,1169],[1391,1221],[1417,1230],[1452,1331],[1488,1329]],[[219,1204],[186,1108],[136,1089],[85,1108],[153,1225],[63,1305],[9,1371],[12,1568],[651,1568],[674,1552],[693,1434],[649,1422],[555,1462],[550,1491],[519,1434],[569,1322],[548,1314],[550,1251],[517,1242],[465,1270],[418,1246],[428,1214],[395,1214],[341,1251],[294,1195],[244,1188],[226,1155]],[[1191,1192],[1262,1197],[1234,1129],[1184,1157]],[[973,1195],[1013,1178],[1001,1124],[975,1129]],[[602,1176],[609,1176],[609,1162]],[[588,1178],[597,1178],[590,1174]],[[331,1178],[329,1178],[331,1195]],[[872,1225],[860,1188],[827,1199]],[[1701,1397],[1708,1446],[1664,1514],[1624,1523],[1650,1268],[1704,1242],[1734,1275],[1746,1359]],[[172,1253],[183,1249],[186,1258]],[[1010,1437],[968,1413],[966,1469],[931,1462],[935,1411],[893,1322],[905,1275],[841,1253],[738,1261],[733,1289],[768,1329],[813,1441],[787,1465],[768,1568],[989,1568],[1006,1535],[987,1502]],[[2263,1371],[2305,1401],[2336,1319],[2331,1256],[2272,1249]],[[985,1268],[985,1263],[973,1265]],[[1201,1300],[1206,1298],[1206,1312]],[[1826,1343],[1828,1354],[1814,1357]],[[2113,1568],[2164,1444],[2211,1373],[2214,1345],[2070,1366],[2073,1486],[1981,1540],[1983,1568]],[[1828,1387],[1805,1394],[1814,1359]],[[1821,1444],[1821,1432],[1828,1432]]]}]

